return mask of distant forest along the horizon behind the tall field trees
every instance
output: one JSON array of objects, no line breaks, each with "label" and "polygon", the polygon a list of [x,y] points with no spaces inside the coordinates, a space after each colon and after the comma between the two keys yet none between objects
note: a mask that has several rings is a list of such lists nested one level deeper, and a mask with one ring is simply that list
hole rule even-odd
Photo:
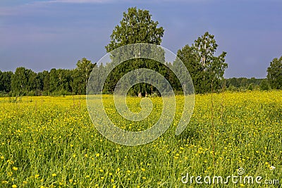
[{"label": "distant forest along the horizon behind the tall field trees", "polygon": [[[62,96],[62,95],[78,95],[85,94],[87,79],[91,70],[96,63],[91,63],[86,58],[78,61],[78,67],[73,70],[67,69],[51,69],[44,70],[40,73],[27,68],[17,68],[16,72],[11,71],[1,72],[0,70],[0,96]],[[100,65],[99,67],[105,67]],[[173,82],[169,80],[168,82]],[[104,86],[104,93],[111,94],[111,83],[106,82]],[[181,88],[173,87],[176,93],[181,92]],[[221,82],[221,90],[223,89],[231,92],[247,91],[247,90],[269,90],[269,82],[266,78],[257,79],[255,77],[233,77],[223,79]],[[146,91],[145,91],[146,92]],[[147,93],[152,94],[148,89]],[[197,92],[196,93],[208,93]],[[137,95],[133,93],[132,95]]]}]

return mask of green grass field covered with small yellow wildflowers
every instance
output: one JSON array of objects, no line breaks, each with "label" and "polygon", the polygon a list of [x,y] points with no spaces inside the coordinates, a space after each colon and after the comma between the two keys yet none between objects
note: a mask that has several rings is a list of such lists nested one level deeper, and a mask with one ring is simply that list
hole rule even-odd
[{"label": "green grass field covered with small yellow wildflowers", "polygon": [[[187,173],[228,177],[239,168],[262,182],[280,180],[268,187],[281,186],[282,92],[213,94],[213,117],[211,99],[195,96],[190,123],[175,136],[182,113],[177,96],[176,117],[165,134],[142,146],[121,146],[97,132],[85,96],[1,98],[0,187],[208,187],[181,179]],[[116,114],[113,96],[104,101],[111,120],[126,130],[145,130],[161,113],[161,99],[152,98],[152,114],[136,125]],[[128,105],[139,111],[139,101],[131,97]]]}]

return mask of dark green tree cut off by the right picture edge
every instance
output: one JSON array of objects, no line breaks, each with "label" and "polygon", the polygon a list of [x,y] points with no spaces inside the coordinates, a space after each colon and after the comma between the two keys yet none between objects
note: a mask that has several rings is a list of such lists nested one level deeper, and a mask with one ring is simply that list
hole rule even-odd
[{"label": "dark green tree cut off by the right picture edge", "polygon": [[282,56],[270,62],[267,68],[267,79],[272,89],[282,89]]}]

